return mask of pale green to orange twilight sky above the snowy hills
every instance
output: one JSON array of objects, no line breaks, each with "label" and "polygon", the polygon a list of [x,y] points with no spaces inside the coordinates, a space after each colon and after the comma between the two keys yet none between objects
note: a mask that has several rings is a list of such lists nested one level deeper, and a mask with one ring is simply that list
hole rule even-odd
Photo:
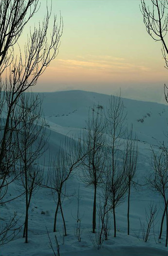
[{"label": "pale green to orange twilight sky above the snowy hills", "polygon": [[[46,2],[40,0],[29,26],[42,21]],[[53,14],[59,22],[61,12],[64,24],[59,53],[33,90],[116,94],[121,88],[122,97],[165,102],[168,70],[162,45],[149,37],[140,4],[140,0],[53,0]]]}]

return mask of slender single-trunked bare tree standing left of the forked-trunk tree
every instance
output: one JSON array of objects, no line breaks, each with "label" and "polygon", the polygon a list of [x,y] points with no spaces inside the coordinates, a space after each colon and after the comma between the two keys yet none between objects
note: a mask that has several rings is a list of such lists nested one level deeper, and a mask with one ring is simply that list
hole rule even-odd
[{"label": "slender single-trunked bare tree standing left of the forked-trunk tree", "polygon": [[[44,153],[47,142],[46,122],[42,117],[41,100],[38,96],[24,93],[19,102],[19,130],[17,130],[17,149],[19,151],[19,185],[25,193],[26,214],[23,237],[28,242],[28,210],[32,195],[42,182],[43,172],[38,167],[38,159]],[[20,186],[19,186],[20,188]]]}]

